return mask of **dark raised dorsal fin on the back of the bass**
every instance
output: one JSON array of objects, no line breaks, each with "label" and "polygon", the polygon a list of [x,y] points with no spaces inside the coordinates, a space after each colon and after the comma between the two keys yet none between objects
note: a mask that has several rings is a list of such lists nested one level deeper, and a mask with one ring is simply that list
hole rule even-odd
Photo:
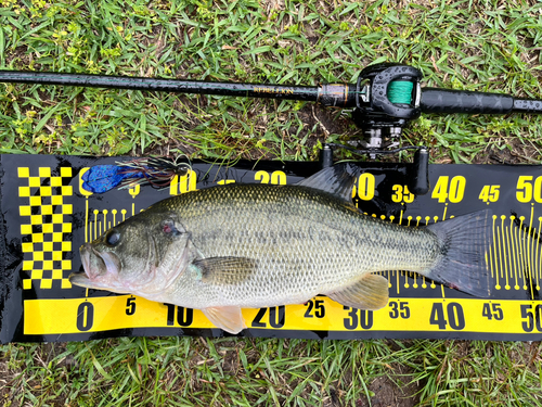
[{"label": "dark raised dorsal fin on the back of the bass", "polygon": [[358,175],[359,167],[350,163],[335,164],[299,181],[297,186],[318,189],[352,202],[352,188]]}]

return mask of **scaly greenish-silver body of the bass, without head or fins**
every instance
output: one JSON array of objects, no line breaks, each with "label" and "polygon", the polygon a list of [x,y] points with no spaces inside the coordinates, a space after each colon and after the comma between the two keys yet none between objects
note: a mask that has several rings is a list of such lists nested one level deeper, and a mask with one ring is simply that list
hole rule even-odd
[{"label": "scaly greenish-silver body of the bass, without head or fins", "polygon": [[437,239],[427,230],[369,219],[353,205],[309,188],[228,185],[181,194],[163,205],[177,212],[206,257],[257,262],[245,280],[208,285],[205,295],[202,284],[180,279],[169,295],[193,292],[194,304],[304,302],[347,287],[362,272],[428,269],[439,255]]}]

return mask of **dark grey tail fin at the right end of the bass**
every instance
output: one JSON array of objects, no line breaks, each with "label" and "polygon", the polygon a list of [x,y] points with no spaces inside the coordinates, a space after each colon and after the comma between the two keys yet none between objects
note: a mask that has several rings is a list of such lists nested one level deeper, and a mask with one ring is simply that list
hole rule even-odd
[{"label": "dark grey tail fin at the right end of the bass", "polygon": [[491,211],[479,211],[427,226],[442,244],[442,258],[427,278],[467,294],[490,295],[486,252],[491,245]]}]

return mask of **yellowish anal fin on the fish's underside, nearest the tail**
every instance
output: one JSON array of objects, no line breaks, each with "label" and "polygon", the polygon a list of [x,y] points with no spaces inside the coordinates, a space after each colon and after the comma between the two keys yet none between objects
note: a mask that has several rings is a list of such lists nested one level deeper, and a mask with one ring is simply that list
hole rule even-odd
[{"label": "yellowish anal fin on the fish's underside, nearest the tail", "polygon": [[352,308],[380,309],[388,303],[388,280],[382,276],[367,274],[352,285],[326,295]]}]

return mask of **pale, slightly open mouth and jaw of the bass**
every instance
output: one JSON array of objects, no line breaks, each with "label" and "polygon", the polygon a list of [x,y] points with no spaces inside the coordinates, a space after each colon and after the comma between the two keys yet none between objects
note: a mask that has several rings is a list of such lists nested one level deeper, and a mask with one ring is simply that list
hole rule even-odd
[{"label": "pale, slightly open mouth and jaw of the bass", "polygon": [[85,243],[79,249],[83,272],[73,272],[68,279],[72,284],[86,289],[112,290],[120,269],[118,257],[109,252],[98,252],[92,244]]}]

